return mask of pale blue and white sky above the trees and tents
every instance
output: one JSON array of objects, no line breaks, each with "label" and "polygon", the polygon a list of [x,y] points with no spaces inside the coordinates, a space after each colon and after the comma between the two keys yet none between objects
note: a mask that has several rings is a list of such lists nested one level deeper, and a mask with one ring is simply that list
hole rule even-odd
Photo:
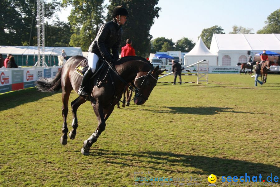
[{"label": "pale blue and white sky above the trees and tents", "polygon": [[[256,33],[265,26],[267,17],[280,8],[280,0],[159,0],[156,6],[161,11],[150,30],[153,39],[165,37],[176,42],[187,37],[196,42],[204,28],[215,25],[226,34],[233,25],[253,28]],[[70,9],[59,13],[62,21],[67,21]]]}]

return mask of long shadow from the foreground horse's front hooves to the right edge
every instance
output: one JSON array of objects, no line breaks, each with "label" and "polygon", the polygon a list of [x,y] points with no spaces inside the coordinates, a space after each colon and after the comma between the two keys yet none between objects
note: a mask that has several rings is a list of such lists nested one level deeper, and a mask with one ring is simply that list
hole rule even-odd
[{"label": "long shadow from the foreground horse's front hooves to the right edge", "polygon": [[[147,171],[148,169],[153,169],[189,173],[187,167],[193,167],[198,170],[193,171],[193,169],[190,169],[192,170],[190,173],[197,175],[244,176],[247,173],[250,176],[259,176],[261,174],[262,179],[265,179],[270,173],[273,176],[280,175],[280,168],[274,165],[218,157],[184,155],[162,151],[128,153],[104,149],[98,149],[90,153],[90,156],[95,156],[96,154],[106,158],[106,163],[133,166],[136,167],[135,170],[137,168],[146,168]],[[120,160],[123,160],[123,162]],[[177,166],[184,166],[186,169],[185,171],[178,171]]]}]

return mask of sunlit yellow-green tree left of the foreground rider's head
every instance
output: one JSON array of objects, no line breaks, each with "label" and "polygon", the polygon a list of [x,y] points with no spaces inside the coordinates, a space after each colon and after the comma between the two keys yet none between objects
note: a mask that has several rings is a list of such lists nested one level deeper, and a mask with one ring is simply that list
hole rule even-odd
[{"label": "sunlit yellow-green tree left of the foreground rider's head", "polygon": [[88,50],[105,19],[103,2],[104,0],[63,0],[64,7],[68,4],[74,7],[68,17],[73,32],[71,46],[81,46],[83,51]]}]

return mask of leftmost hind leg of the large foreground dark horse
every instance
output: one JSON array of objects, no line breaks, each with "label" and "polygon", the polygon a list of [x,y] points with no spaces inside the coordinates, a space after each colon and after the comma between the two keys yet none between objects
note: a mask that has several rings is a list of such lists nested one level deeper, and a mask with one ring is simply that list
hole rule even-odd
[{"label": "leftmost hind leg of the large foreground dark horse", "polygon": [[68,101],[71,90],[67,91],[65,89],[62,90],[62,117],[63,117],[63,125],[62,125],[62,136],[60,138],[60,143],[62,145],[67,144],[67,115],[68,115]]}]

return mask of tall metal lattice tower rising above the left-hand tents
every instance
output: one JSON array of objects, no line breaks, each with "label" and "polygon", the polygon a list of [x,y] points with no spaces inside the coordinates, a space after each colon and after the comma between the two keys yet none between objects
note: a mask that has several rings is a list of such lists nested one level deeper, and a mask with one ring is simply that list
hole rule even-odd
[{"label": "tall metal lattice tower rising above the left-hand tents", "polygon": [[37,0],[37,43],[38,61],[35,66],[47,66],[45,63],[45,7],[44,0]]}]

